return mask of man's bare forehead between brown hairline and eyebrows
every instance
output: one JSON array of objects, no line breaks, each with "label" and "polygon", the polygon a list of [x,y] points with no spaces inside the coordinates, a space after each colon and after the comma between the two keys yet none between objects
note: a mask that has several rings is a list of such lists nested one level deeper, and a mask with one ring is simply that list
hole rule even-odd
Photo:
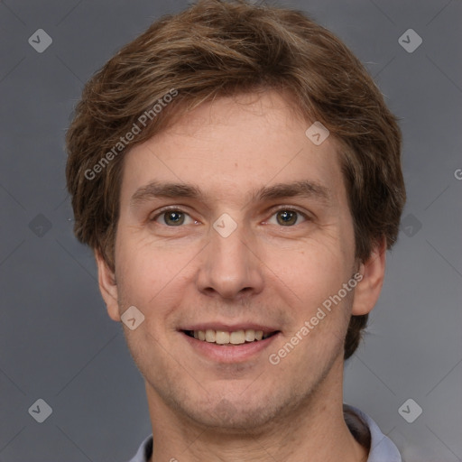
[{"label": "man's bare forehead between brown hairline and eyebrows", "polygon": [[333,137],[312,143],[291,97],[275,91],[223,97],[177,117],[125,154],[122,200],[152,182],[197,186],[216,199],[310,181],[345,191]]}]

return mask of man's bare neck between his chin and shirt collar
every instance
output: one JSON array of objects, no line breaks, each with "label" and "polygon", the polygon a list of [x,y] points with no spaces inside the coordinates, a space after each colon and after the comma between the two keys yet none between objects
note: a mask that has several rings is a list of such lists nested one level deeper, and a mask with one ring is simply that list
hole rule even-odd
[{"label": "man's bare neck between his chin and shirt collar", "polygon": [[203,427],[172,411],[147,384],[154,448],[150,462],[365,462],[368,451],[352,436],[343,415],[343,363],[330,373],[301,405],[252,431]]}]

